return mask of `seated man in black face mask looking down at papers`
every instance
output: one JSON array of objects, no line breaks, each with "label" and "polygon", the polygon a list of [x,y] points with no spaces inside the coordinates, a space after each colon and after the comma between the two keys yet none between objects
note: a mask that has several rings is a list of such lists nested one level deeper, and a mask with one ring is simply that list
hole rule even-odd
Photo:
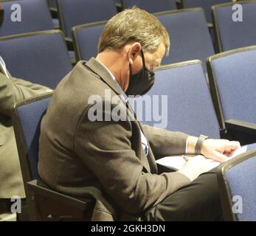
[{"label": "seated man in black face mask looking down at papers", "polygon": [[[153,69],[169,48],[165,27],[144,10],[124,10],[108,21],[97,58],[80,61],[60,81],[42,119],[38,171],[46,184],[80,197],[97,187],[117,210],[116,220],[222,219],[217,177],[205,173],[202,156],[172,173],[158,173],[156,159],[196,152],[222,162],[239,142],[142,125],[127,102],[126,94],[151,88]],[[113,214],[103,205],[94,213],[92,220]]]}]

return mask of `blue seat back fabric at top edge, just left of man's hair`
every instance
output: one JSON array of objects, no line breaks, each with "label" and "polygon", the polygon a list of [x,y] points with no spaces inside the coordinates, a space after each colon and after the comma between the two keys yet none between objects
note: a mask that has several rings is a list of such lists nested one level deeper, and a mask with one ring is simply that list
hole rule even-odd
[{"label": "blue seat back fabric at top edge, just left of man's hair", "polygon": [[112,0],[60,0],[63,30],[71,37],[71,29],[80,24],[105,21],[117,13]]}]

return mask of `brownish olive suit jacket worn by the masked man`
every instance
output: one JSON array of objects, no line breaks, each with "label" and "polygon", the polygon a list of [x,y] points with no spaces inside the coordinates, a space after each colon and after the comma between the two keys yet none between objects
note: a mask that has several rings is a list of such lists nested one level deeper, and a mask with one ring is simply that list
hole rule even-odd
[{"label": "brownish olive suit jacket worn by the masked man", "polygon": [[[185,152],[187,134],[142,125],[136,119],[89,119],[93,97],[102,97],[103,107],[111,108],[101,114],[109,118],[117,107],[112,98],[119,95],[111,74],[96,59],[77,63],[58,84],[42,119],[38,170],[46,184],[69,195],[83,197],[86,187],[97,187],[117,206],[122,219],[122,214],[142,215],[190,180],[177,172],[158,174],[156,166],[156,159]],[[140,131],[148,139],[148,156]],[[113,212],[103,205],[96,204],[93,220],[111,220]]]}]

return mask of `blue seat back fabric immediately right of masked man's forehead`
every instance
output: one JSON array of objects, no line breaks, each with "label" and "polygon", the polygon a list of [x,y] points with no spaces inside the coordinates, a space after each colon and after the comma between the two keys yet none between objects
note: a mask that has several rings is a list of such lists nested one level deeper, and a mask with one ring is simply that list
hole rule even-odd
[{"label": "blue seat back fabric immediately right of masked man's forehead", "polygon": [[205,67],[207,57],[215,52],[204,11],[169,13],[158,18],[170,35],[170,54],[163,58],[162,64],[198,59]]}]

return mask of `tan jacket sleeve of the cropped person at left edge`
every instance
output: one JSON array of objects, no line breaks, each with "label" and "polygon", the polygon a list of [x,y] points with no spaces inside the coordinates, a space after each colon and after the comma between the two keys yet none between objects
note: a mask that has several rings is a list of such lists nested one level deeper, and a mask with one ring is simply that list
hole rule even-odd
[{"label": "tan jacket sleeve of the cropped person at left edge", "polygon": [[0,73],[0,114],[10,117],[14,103],[48,91],[52,89]]}]

